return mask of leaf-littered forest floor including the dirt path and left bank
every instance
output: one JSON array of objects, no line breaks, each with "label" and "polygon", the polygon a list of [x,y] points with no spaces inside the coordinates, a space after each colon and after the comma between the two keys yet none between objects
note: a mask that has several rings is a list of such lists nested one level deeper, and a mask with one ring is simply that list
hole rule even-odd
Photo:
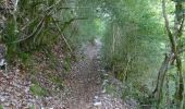
[{"label": "leaf-littered forest floor including the dirt path and left bank", "polygon": [[[61,77],[63,89],[55,94],[50,92],[45,97],[32,93],[32,77],[30,75],[23,77],[20,68],[14,68],[8,74],[1,72],[1,107],[4,109],[136,109],[135,101],[122,101],[121,98],[106,93],[108,80],[103,80],[106,72],[99,59],[99,50],[97,44],[86,45],[82,50],[84,58],[73,63],[70,73]],[[81,55],[77,57],[82,57]],[[120,84],[114,78],[109,83],[113,82]],[[54,87],[54,85],[47,86],[47,82],[44,83],[42,86],[51,90]],[[35,86],[35,88],[40,87]]]}]

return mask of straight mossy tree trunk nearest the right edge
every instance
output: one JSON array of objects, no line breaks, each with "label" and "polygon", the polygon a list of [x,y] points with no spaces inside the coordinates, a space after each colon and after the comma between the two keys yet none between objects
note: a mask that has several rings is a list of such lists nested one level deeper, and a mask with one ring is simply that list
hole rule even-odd
[{"label": "straight mossy tree trunk nearest the right edge", "polygon": [[182,71],[182,58],[180,51],[182,45],[182,31],[184,27],[184,15],[181,15],[183,11],[182,2],[175,2],[175,23],[174,23],[174,37],[176,38],[176,51],[175,60],[176,60],[176,73],[178,76],[177,86],[175,92],[175,102],[177,109],[183,109],[183,93],[184,93],[184,83],[183,83],[183,71]]}]

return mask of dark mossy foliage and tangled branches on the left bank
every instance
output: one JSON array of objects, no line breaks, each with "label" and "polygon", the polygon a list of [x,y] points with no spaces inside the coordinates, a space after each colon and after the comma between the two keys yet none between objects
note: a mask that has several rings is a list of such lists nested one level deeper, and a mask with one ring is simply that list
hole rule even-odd
[{"label": "dark mossy foliage and tangled branches on the left bank", "polygon": [[[8,46],[10,61],[25,58],[25,53],[47,49],[57,41],[64,40],[65,36],[62,34],[74,17],[70,10],[61,8],[64,7],[64,2],[63,0],[20,0],[16,11],[11,10],[12,13],[2,14],[7,21],[1,40]],[[57,25],[61,32],[57,29]],[[67,40],[63,43],[66,48]]]}]

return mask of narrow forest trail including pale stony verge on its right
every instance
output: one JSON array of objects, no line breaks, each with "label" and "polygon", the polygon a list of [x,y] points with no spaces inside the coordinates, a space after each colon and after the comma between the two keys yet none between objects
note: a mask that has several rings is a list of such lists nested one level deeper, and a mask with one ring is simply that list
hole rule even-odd
[{"label": "narrow forest trail including pale stony verge on its right", "polygon": [[101,65],[98,59],[100,44],[88,44],[85,58],[76,62],[65,80],[69,95],[66,109],[133,109],[103,92]]}]

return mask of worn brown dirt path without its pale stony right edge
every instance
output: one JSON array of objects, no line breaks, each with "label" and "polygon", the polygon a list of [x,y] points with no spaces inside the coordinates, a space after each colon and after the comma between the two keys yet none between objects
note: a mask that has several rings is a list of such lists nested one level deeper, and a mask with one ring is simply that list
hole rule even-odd
[{"label": "worn brown dirt path without its pale stony right edge", "polygon": [[70,88],[67,108],[89,109],[94,97],[101,90],[99,64],[96,61],[98,50],[96,46],[88,45],[85,49],[85,59],[75,63],[66,77]]}]

